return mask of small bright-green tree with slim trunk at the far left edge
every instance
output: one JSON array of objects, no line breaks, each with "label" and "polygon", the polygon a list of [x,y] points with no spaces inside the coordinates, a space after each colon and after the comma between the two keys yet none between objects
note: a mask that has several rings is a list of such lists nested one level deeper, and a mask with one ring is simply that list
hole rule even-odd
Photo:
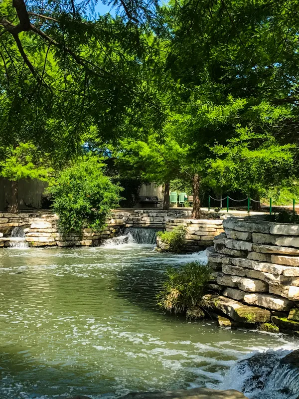
[{"label": "small bright-green tree with slim trunk at the far left edge", "polygon": [[12,146],[1,149],[3,161],[0,162],[0,176],[11,182],[11,203],[9,212],[17,213],[18,208],[18,181],[20,179],[38,179],[49,181],[53,169],[49,160],[34,144],[20,143],[16,148]]}]

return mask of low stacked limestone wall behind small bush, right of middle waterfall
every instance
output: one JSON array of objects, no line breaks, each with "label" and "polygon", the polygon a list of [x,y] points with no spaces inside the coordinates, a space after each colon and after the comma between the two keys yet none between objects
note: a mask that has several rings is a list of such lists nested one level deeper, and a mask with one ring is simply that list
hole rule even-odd
[{"label": "low stacked limestone wall behind small bush, right of middle waterfall", "polygon": [[[224,231],[220,219],[186,219],[169,216],[165,218],[166,231],[172,231],[178,226],[186,228],[184,252],[199,251],[212,245],[214,237]],[[164,246],[161,239],[157,237],[157,248],[163,250]]]}]

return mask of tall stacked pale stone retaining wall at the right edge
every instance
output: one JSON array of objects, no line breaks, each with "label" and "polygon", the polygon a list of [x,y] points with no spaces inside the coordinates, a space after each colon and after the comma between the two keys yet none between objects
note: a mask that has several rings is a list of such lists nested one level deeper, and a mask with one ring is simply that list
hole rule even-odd
[{"label": "tall stacked pale stone retaining wall at the right edge", "polygon": [[208,250],[221,300],[267,309],[282,331],[290,324],[299,331],[299,225],[248,217],[226,219],[223,227]]}]

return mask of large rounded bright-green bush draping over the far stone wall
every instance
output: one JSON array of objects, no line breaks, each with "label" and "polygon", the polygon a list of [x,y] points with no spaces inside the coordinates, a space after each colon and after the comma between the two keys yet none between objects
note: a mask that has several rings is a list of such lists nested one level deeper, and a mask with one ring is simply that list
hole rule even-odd
[{"label": "large rounded bright-green bush draping over the far stone wall", "polygon": [[65,168],[49,186],[54,211],[65,233],[83,226],[101,230],[111,208],[119,206],[121,187],[103,174],[96,156],[86,156]]}]

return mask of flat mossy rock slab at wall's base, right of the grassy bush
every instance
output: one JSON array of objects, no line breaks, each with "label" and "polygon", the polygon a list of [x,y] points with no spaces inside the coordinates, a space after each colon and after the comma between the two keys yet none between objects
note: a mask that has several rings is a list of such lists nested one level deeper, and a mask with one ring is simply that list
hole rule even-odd
[{"label": "flat mossy rock slab at wall's base, right of the grassy bush", "polygon": [[237,323],[255,324],[268,323],[270,321],[271,313],[269,310],[243,305],[240,302],[224,296],[216,297],[214,301],[215,307],[218,310]]}]

